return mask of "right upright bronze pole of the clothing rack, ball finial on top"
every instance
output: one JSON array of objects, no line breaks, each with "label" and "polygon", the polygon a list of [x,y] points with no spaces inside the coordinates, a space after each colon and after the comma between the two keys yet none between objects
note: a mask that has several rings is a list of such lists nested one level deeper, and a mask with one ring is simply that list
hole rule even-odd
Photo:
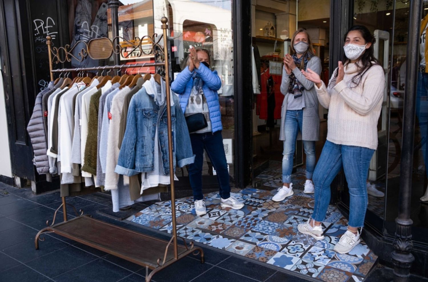
[{"label": "right upright bronze pole of the clothing rack, ball finial on top", "polygon": [[174,258],[178,258],[177,247],[177,223],[175,220],[175,189],[174,189],[174,160],[172,155],[172,125],[171,125],[171,94],[169,93],[169,64],[168,64],[168,19],[162,17],[163,52],[165,54],[165,81],[166,81],[166,114],[168,119],[168,151],[169,151],[169,180],[171,182],[171,211],[172,211],[172,235],[174,236]]}]

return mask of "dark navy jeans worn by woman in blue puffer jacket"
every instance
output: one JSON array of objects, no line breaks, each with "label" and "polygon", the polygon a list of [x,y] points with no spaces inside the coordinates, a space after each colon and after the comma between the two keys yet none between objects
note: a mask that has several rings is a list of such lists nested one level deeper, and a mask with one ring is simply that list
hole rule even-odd
[{"label": "dark navy jeans worn by woman in blue puffer jacket", "polygon": [[204,160],[204,149],[217,172],[217,180],[220,185],[220,197],[228,199],[230,197],[229,172],[227,170],[226,155],[223,147],[223,137],[221,131],[207,133],[190,134],[195,162],[188,167],[190,186],[193,190],[193,199],[202,200],[202,165]]}]

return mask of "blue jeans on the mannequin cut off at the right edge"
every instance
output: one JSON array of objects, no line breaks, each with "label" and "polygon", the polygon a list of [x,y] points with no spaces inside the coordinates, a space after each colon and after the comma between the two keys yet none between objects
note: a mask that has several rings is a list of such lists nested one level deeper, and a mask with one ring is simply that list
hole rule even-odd
[{"label": "blue jeans on the mannequin cut off at the right edge", "polygon": [[425,170],[428,175],[428,74],[419,72],[418,89],[416,92],[416,116],[419,121],[419,131],[422,142],[422,155],[425,160]]}]

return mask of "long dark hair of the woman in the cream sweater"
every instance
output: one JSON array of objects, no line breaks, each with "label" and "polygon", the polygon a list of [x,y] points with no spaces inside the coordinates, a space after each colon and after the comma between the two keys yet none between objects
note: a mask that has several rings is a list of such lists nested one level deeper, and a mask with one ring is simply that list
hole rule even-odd
[{"label": "long dark hair of the woman in the cream sweater", "polygon": [[[357,64],[358,73],[354,77],[352,77],[352,80],[351,80],[352,83],[354,83],[354,85],[357,86],[358,84],[360,84],[361,78],[369,70],[369,68],[371,68],[373,65],[380,65],[380,62],[378,59],[375,58],[375,55],[374,55],[373,45],[375,45],[376,43],[375,36],[373,36],[372,33],[370,33],[367,27],[363,25],[355,25],[351,27],[345,33],[345,36],[343,37],[343,42],[346,42],[346,37],[348,36],[348,33],[353,30],[358,30],[363,36],[363,39],[366,41],[366,43],[369,43],[369,42],[372,43],[372,45],[366,49],[363,56],[361,56],[361,65]],[[343,54],[343,59],[342,59],[343,65],[345,65],[350,61],[351,60],[345,54]],[[337,75],[338,75],[338,71],[336,71],[334,75],[334,79],[331,81],[332,83],[333,81],[336,82]]]}]

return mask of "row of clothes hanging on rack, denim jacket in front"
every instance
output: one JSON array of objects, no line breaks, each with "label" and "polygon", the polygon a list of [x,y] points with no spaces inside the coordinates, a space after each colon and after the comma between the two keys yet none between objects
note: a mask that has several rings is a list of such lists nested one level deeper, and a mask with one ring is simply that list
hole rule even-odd
[{"label": "row of clothes hanging on rack, denim jacket in front", "polygon": [[[73,81],[61,78],[37,95],[27,128],[33,143],[35,165],[39,174],[49,175],[49,179],[51,174],[59,175],[61,196],[92,193],[100,190],[98,188],[109,190],[113,211],[118,212],[135,202],[159,200],[161,192],[168,192],[165,186],[170,184],[166,151],[166,84],[163,80],[159,84],[150,74],[144,77],[138,74],[131,85],[133,77],[128,80],[129,86],[119,83],[119,77],[114,79],[115,83],[108,76],[92,81],[88,77],[86,83],[81,77]],[[106,78],[109,80],[105,81]],[[138,105],[141,105],[136,104],[137,101],[149,103],[152,109],[141,112],[145,119],[143,123],[135,120],[135,115],[140,113]],[[183,113],[181,110],[175,112],[175,108],[180,109],[177,95],[171,95],[171,104],[174,109],[174,144],[177,144],[174,164],[182,167],[193,162],[193,153]],[[160,115],[155,117],[155,112]],[[136,128],[147,128],[152,123],[153,130],[144,136],[152,136],[152,141],[158,142],[145,141],[145,146],[140,148],[148,151],[130,146],[130,134],[137,133]],[[151,147],[147,146],[149,143]],[[151,165],[144,169],[137,165],[135,169],[125,158],[132,173],[115,172],[121,146],[127,157],[129,150],[141,156],[152,154]],[[138,156],[136,160],[139,160]],[[175,175],[174,178],[178,180]]]}]

